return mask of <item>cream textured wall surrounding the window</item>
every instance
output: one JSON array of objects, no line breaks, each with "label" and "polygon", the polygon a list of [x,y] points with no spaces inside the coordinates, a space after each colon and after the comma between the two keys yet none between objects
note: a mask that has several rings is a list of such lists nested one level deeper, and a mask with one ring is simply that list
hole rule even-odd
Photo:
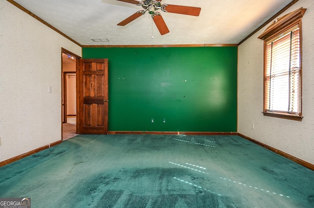
[{"label": "cream textured wall surrounding the window", "polygon": [[[284,14],[307,8],[303,17],[303,120],[263,116],[262,28],[238,48],[239,133],[314,164],[314,1],[299,0]],[[281,16],[282,16],[281,15]],[[254,129],[251,128],[252,123]]]}]

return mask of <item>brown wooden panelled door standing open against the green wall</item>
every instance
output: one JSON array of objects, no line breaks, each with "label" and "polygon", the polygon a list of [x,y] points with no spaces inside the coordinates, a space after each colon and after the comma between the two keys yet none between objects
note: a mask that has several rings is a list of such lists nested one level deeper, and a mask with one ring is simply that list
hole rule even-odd
[{"label": "brown wooden panelled door standing open against the green wall", "polygon": [[78,133],[108,133],[108,59],[78,61]]}]

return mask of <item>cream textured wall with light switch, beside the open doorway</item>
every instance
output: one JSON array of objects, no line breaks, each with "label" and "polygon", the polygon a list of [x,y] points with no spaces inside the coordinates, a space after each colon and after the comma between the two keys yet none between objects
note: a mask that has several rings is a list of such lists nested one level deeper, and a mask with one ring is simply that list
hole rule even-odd
[{"label": "cream textured wall with light switch, beside the open doorway", "polygon": [[0,161],[61,139],[61,47],[81,56],[78,45],[0,1]]}]

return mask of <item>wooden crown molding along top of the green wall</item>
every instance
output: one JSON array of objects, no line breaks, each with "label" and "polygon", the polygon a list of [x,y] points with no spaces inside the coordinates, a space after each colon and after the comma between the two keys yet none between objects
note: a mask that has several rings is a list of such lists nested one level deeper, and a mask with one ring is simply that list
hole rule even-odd
[{"label": "wooden crown molding along top of the green wall", "polygon": [[82,48],[179,48],[179,47],[227,47],[237,44],[195,44],[195,45],[83,45]]}]

